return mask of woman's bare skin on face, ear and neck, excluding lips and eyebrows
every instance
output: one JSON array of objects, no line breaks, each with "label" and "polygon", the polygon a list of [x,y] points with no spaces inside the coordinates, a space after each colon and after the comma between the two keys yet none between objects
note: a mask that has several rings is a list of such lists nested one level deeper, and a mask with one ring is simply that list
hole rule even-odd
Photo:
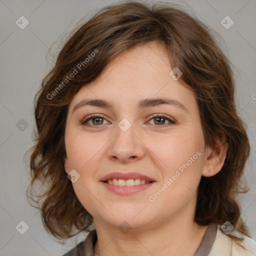
[{"label": "woman's bare skin on face, ear and neck, excluding lips and eyebrows", "polygon": [[[221,169],[227,148],[221,143],[217,150],[205,147],[195,97],[169,75],[171,69],[160,44],[133,47],[83,86],[68,107],[64,168],[66,173],[75,169],[80,175],[72,185],[93,216],[97,231],[94,253],[100,256],[192,256],[206,231],[207,226],[193,221],[197,187],[202,175],[211,176]],[[139,100],[156,97],[178,100],[187,111],[168,104],[136,109]],[[72,113],[76,103],[92,98],[109,100],[113,108],[82,106]],[[80,122],[92,113],[104,119],[82,125]],[[152,119],[157,113],[176,123]],[[131,124],[126,131],[117,125],[123,118]],[[200,156],[150,202],[149,196],[197,151]],[[156,182],[138,193],[118,195],[100,183],[104,175],[114,171],[139,172]],[[131,227],[126,233],[118,228],[123,221]]]}]

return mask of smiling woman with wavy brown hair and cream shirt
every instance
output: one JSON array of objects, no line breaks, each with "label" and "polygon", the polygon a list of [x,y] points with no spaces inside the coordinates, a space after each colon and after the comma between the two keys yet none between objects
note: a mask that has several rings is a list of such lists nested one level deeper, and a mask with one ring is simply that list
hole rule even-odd
[{"label": "smiling woman with wavy brown hair and cream shirt", "polygon": [[255,255],[230,63],[177,5],[127,1],[78,27],[35,120],[29,187],[47,180],[45,228],[66,239],[95,225],[65,256]]}]

